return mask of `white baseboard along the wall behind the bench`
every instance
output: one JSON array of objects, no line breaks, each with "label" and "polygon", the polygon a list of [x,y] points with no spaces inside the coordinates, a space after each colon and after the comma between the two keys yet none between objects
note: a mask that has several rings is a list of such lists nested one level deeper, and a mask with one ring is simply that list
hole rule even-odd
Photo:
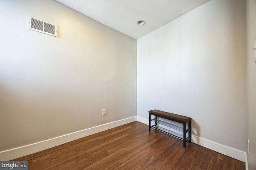
[{"label": "white baseboard along the wall behind the bench", "polygon": [[[144,123],[148,125],[149,120],[145,119],[143,117],[137,116],[137,121],[140,121],[141,123]],[[225,145],[221,145],[219,143],[209,141],[208,139],[204,139],[202,137],[198,137],[195,135],[191,135],[192,139],[191,142],[195,143],[197,145],[200,145],[202,147],[206,147],[208,149],[214,150],[216,152],[219,152],[221,154],[224,154],[226,156],[230,156],[231,158],[240,160],[242,162],[246,162],[246,152],[237,150],[231,147],[227,147]]]}]

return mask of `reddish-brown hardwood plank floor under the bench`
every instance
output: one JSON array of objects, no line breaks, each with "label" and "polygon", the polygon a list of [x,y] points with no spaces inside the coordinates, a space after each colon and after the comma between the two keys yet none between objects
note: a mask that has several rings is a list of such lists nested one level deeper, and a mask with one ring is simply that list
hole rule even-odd
[{"label": "reddish-brown hardwood plank floor under the bench", "polygon": [[15,160],[29,170],[245,170],[244,162],[152,129],[138,121]]}]

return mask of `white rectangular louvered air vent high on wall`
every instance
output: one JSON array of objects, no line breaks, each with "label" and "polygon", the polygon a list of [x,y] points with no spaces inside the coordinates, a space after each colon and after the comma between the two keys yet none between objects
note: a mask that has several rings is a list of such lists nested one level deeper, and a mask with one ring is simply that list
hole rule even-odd
[{"label": "white rectangular louvered air vent high on wall", "polygon": [[28,19],[28,29],[38,31],[41,33],[46,33],[58,37],[57,25],[52,25],[42,20],[29,17]]}]

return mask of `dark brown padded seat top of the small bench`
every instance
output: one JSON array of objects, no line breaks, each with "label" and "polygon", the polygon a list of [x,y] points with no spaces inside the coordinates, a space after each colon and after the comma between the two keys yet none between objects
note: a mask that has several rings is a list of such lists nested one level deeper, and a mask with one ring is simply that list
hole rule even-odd
[{"label": "dark brown padded seat top of the small bench", "polygon": [[178,121],[180,123],[186,123],[191,120],[191,118],[187,117],[187,116],[177,115],[174,113],[168,113],[168,112],[160,111],[160,110],[150,110],[148,112],[152,115],[159,116],[159,117],[169,119],[169,120]]}]

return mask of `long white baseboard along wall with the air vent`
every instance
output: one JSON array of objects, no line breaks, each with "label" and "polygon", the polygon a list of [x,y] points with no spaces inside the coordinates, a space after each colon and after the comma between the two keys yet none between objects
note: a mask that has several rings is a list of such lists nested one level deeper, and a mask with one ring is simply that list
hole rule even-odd
[{"label": "long white baseboard along wall with the air vent", "polygon": [[80,139],[82,137],[86,137],[86,136],[92,135],[94,133],[105,131],[105,130],[108,130],[108,129],[111,129],[114,127],[118,127],[120,125],[124,125],[126,123],[130,123],[130,122],[133,122],[136,120],[137,120],[137,116],[129,117],[126,119],[114,121],[111,123],[106,123],[104,125],[99,125],[96,127],[91,127],[91,128],[84,129],[81,131],[77,131],[77,132],[69,133],[66,135],[59,136],[59,137],[55,137],[52,139],[48,139],[45,141],[40,141],[40,142],[33,143],[30,145],[26,145],[26,146],[14,148],[14,149],[9,149],[9,150],[4,150],[4,151],[0,152],[0,160],[4,161],[4,160],[12,160],[15,158],[20,158],[22,156],[26,156],[26,155],[29,155],[32,153],[39,152],[41,150],[56,147],[58,145],[62,145],[64,143],[68,143],[70,141],[74,141],[76,139]]}]

